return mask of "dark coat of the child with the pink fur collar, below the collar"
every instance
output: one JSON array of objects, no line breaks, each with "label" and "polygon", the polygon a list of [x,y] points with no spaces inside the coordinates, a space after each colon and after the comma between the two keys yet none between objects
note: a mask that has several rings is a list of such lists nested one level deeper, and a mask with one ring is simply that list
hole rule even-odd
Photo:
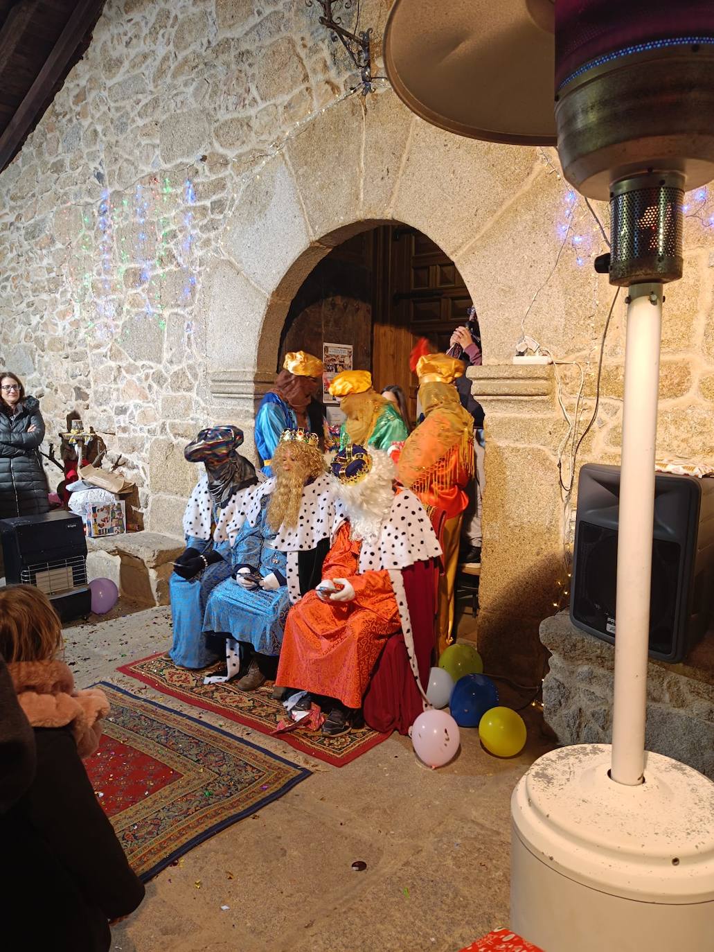
[{"label": "dark coat of the child with the pink fur collar, below the collar", "polygon": [[133,912],[144,886],[94,796],[69,725],[35,727],[34,735],[34,783],[0,817],[4,939],[24,935],[17,948],[107,952],[109,921]]}]

